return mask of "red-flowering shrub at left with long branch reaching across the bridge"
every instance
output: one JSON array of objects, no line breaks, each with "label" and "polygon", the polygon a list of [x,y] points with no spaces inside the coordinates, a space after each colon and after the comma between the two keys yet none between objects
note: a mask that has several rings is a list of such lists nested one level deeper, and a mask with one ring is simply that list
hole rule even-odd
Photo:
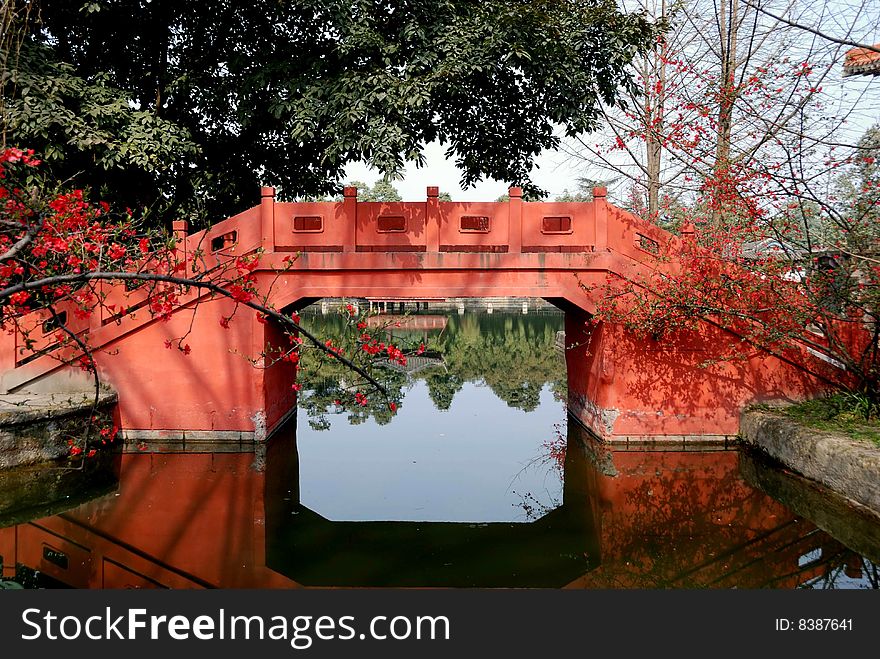
[{"label": "red-flowering shrub at left with long branch reaching across the bridge", "polygon": [[[371,371],[380,354],[400,364],[406,363],[406,355],[375,338],[353,306],[345,311],[351,337],[340,343],[321,341],[300,327],[296,314],[273,308],[256,274],[259,251],[219,254],[210,267],[199,266],[198,255],[187,259],[173,236],[142,227],[131,211],[117,213],[106,203],[92,203],[82,190],[47,193],[39,165],[32,151],[0,152],[0,329],[18,333],[20,361],[49,355],[78,365],[93,375],[97,403],[98,370],[89,334],[83,331],[90,320],[96,315],[120,320],[145,310],[152,318],[167,321],[198,291],[235,303],[231,314],[218,319],[224,329],[229,329],[242,307],[256,312],[260,322],[272,319],[284,328],[287,345],[253,357],[255,364],[265,367],[285,360],[301,368],[300,356],[311,347],[319,356],[314,367],[323,359],[338,361],[356,378],[338,392],[339,406],[362,408],[371,398],[367,390],[373,389],[386,411],[397,410],[397,403],[386,400],[385,388]],[[287,269],[293,263],[293,258],[285,259]],[[120,304],[119,296],[110,292],[121,288],[139,293],[140,301]],[[195,352],[197,338],[187,332],[165,340],[164,346],[187,356]],[[299,390],[301,385],[293,387]],[[105,425],[98,428],[97,442],[88,437],[71,441],[71,456],[94,455],[91,448],[112,440],[117,430]]]}]

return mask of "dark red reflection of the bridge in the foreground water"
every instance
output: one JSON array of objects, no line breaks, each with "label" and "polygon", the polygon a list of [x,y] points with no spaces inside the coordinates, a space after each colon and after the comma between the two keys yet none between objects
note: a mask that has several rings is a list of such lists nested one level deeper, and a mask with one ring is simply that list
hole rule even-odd
[{"label": "dark red reflection of the bridge in the foreground water", "polygon": [[[871,561],[746,481],[769,479],[821,514],[797,479],[734,450],[608,450],[575,422],[561,505],[530,522],[330,521],[299,500],[292,427],[265,456],[118,460],[116,491],[0,529],[5,577],[38,570],[38,583],[81,588],[877,586]],[[876,524],[842,526],[863,529],[847,542],[876,564]]]}]

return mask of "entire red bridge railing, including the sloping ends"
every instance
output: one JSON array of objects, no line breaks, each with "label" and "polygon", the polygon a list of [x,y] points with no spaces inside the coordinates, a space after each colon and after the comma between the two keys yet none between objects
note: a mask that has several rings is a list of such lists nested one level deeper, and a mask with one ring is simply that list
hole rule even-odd
[{"label": "entire red bridge railing, including the sloping ends", "polygon": [[[275,190],[264,187],[261,202],[209,229],[189,234],[185,222],[174,223],[179,258],[188,274],[201,273],[230,258],[258,248],[266,252],[433,252],[540,254],[612,250],[645,260],[666,232],[610,206],[605,188],[593,190],[588,203],[524,202],[512,187],[509,201],[440,201],[437,187],[424,202],[358,202],[357,189],[344,190],[338,202],[279,203]],[[610,221],[609,221],[610,220]],[[74,305],[61,308],[65,323],[77,334],[124,322],[149,303],[148,291],[103,285],[104,304],[89,319],[76,316]],[[141,321],[149,313],[140,314]],[[0,349],[0,366],[8,370],[40,358],[58,341],[47,312],[22,319],[22,329]],[[47,367],[48,368],[48,367]]]}]

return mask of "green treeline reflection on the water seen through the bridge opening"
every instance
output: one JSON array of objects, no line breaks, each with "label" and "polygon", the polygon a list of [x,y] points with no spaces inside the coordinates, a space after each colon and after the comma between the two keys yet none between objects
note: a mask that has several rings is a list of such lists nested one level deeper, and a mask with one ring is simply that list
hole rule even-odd
[{"label": "green treeline reflection on the water seen through the bridge opening", "polygon": [[[357,349],[346,338],[351,332],[344,316],[306,317],[304,321],[307,326],[320,323],[321,335],[331,337],[334,345]],[[443,356],[445,366],[409,376],[425,381],[431,401],[439,410],[451,407],[465,382],[484,382],[510,407],[530,412],[538,406],[545,384],[550,384],[557,399],[565,398],[565,360],[555,348],[556,332],[561,327],[561,315],[470,314],[450,317],[442,331],[413,333],[389,327],[384,340],[411,349],[424,342],[430,351]],[[341,413],[336,401],[350,398],[355,388],[352,374],[334,361],[312,359],[309,354],[303,356],[301,365],[298,379],[303,390],[299,405],[308,413],[313,428],[329,428],[326,415]],[[390,369],[382,374],[389,398],[402,400],[407,375]],[[393,413],[387,402],[374,398],[365,406],[346,408],[351,423],[362,423],[371,416],[380,424],[391,420]]]}]

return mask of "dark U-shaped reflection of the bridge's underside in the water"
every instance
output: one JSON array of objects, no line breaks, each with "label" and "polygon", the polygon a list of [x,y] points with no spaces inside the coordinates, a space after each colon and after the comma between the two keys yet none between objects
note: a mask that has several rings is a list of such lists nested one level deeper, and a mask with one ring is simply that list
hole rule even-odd
[{"label": "dark U-shaped reflection of the bridge's underside in the water", "polygon": [[307,586],[563,586],[599,559],[585,454],[570,455],[562,505],[529,523],[334,522],[299,503],[291,461],[270,460],[267,491],[287,496],[266,498],[266,564]]}]

